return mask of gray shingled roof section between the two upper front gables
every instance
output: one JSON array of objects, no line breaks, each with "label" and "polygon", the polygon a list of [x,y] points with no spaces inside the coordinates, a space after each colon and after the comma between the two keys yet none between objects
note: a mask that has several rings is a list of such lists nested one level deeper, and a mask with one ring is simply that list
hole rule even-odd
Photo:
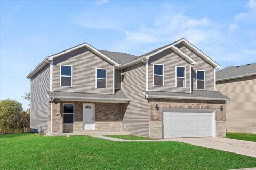
[{"label": "gray shingled roof section between the two upper front gables", "polygon": [[131,55],[131,54],[127,54],[127,53],[110,52],[110,51],[106,51],[106,50],[99,50],[99,51],[119,64],[125,64],[125,63],[128,63],[128,62],[138,58],[135,55]]}]

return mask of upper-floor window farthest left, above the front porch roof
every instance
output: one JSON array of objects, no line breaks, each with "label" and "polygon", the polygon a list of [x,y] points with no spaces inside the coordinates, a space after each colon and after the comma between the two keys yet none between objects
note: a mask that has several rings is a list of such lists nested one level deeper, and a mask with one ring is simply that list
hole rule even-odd
[{"label": "upper-floor window farthest left, above the front porch roof", "polygon": [[72,86],[72,66],[60,65],[60,86]]}]

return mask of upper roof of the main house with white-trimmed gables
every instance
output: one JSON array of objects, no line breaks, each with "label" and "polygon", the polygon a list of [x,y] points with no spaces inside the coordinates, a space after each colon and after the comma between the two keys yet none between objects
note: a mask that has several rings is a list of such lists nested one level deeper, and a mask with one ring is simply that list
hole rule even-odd
[{"label": "upper roof of the main house with white-trimmed gables", "polygon": [[199,56],[203,57],[206,61],[208,61],[210,64],[212,64],[215,68],[219,68],[220,65],[214,62],[210,57],[206,56],[203,52],[201,52],[199,49],[197,49],[194,45],[189,43],[186,39],[182,38],[178,41],[174,41],[171,44],[167,44],[163,47],[157,48],[152,50],[151,52],[148,52],[146,54],[143,54],[139,57],[127,53],[121,53],[121,52],[111,52],[107,50],[98,50],[91,46],[88,43],[82,43],[77,46],[71,47],[69,49],[63,50],[62,52],[53,54],[51,56],[46,57],[40,64],[38,64],[33,71],[31,71],[28,75],[27,78],[33,77],[39,70],[41,70],[43,67],[45,67],[47,64],[49,64],[49,61],[52,61],[53,58],[59,57],[63,54],[69,53],[73,50],[76,50],[78,48],[86,47],[90,50],[92,50],[94,53],[98,54],[100,57],[104,58],[105,60],[109,61],[110,63],[114,64],[115,66],[118,66],[119,69],[123,69],[125,67],[138,64],[142,62],[144,58],[149,59],[151,56],[161,53],[163,50],[171,48],[175,53],[178,53],[184,60],[189,62],[190,64],[197,64],[193,58],[189,57],[187,54],[183,53],[179,48],[177,48],[175,45],[183,43],[187,45],[193,52],[198,54]]}]

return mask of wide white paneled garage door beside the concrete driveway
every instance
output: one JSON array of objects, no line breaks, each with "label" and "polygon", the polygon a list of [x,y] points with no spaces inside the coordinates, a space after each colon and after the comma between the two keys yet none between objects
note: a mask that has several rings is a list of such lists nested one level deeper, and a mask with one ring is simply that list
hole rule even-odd
[{"label": "wide white paneled garage door beside the concrete driveway", "polygon": [[215,111],[169,109],[163,111],[164,138],[215,136]]}]

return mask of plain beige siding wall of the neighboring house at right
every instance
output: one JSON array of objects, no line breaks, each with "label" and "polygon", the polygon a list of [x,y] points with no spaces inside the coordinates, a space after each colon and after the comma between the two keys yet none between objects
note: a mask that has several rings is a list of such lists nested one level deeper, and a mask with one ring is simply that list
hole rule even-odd
[{"label": "plain beige siding wall of the neighboring house at right", "polygon": [[256,133],[256,76],[217,82],[217,90],[230,98],[227,131]]}]

